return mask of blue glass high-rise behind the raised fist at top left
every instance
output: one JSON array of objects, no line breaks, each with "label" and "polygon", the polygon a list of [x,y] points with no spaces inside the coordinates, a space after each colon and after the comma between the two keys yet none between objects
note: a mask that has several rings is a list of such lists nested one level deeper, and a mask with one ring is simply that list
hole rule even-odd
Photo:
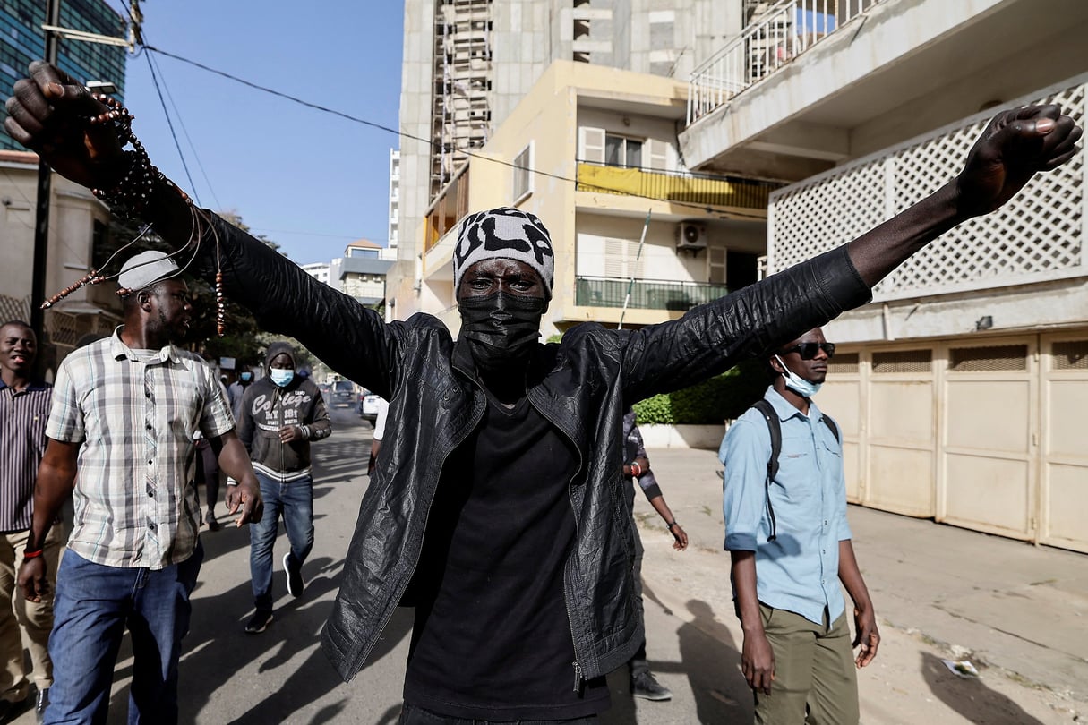
[{"label": "blue glass high-rise behind the raised fist at top left", "polygon": [[[41,0],[0,2],[0,98],[12,93],[15,80],[26,75],[30,61],[45,57],[46,3]],[[106,0],[63,0],[61,27],[122,38],[125,20]],[[81,83],[102,80],[118,89],[124,101],[125,49],[84,40],[61,38],[58,65]],[[2,115],[2,113],[0,113]],[[0,127],[0,149],[23,150]]]}]

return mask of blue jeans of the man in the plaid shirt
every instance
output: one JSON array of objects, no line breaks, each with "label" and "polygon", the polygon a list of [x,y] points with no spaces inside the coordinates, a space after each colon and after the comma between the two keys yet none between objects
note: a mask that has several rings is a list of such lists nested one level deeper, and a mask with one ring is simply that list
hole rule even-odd
[{"label": "blue jeans of the man in the plaid shirt", "polygon": [[106,722],[125,627],[133,643],[128,723],[177,722],[177,660],[203,549],[162,570],[87,561],[71,549],[57,573],[47,723]]}]

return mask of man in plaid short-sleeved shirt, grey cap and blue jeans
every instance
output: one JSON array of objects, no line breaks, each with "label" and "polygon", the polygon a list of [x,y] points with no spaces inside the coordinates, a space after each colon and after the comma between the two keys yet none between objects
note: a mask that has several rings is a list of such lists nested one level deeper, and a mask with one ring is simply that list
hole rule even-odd
[{"label": "man in plaid short-sleeved shirt, grey cap and blue jeans", "polygon": [[49,640],[54,683],[47,723],[106,722],[125,627],[134,655],[129,722],[177,722],[181,640],[203,558],[193,483],[196,430],[238,482],[226,496],[227,509],[239,513],[236,524],[261,516],[257,478],[214,371],[173,345],[193,312],[178,274],[162,252],[128,260],[119,278],[124,325],[72,352],[57,374],[18,574],[27,599],[48,595],[40,553],[72,495],[75,520]]}]

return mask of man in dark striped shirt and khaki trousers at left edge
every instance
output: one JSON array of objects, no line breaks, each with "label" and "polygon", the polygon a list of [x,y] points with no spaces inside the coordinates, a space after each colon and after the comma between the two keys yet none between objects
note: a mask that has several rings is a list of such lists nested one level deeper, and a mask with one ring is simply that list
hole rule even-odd
[{"label": "man in dark striped shirt and khaki trousers at left edge", "polygon": [[[16,552],[26,549],[34,514],[34,479],[46,449],[46,421],[52,388],[33,377],[38,341],[25,322],[0,326],[0,720],[30,693],[23,664],[23,646],[30,654],[36,710],[49,702],[53,665],[49,660],[49,630],[53,599],[27,601],[15,595]],[[64,530],[52,522],[42,547],[50,584],[55,583]],[[22,633],[22,636],[20,636]]]}]

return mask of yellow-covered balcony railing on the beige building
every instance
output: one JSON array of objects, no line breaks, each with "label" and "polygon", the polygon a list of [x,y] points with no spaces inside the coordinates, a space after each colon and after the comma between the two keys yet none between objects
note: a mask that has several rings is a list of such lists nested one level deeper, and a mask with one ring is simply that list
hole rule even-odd
[{"label": "yellow-covered balcony railing on the beige building", "polygon": [[767,209],[780,184],[680,172],[622,168],[579,162],[578,190],[677,201],[701,207]]}]

